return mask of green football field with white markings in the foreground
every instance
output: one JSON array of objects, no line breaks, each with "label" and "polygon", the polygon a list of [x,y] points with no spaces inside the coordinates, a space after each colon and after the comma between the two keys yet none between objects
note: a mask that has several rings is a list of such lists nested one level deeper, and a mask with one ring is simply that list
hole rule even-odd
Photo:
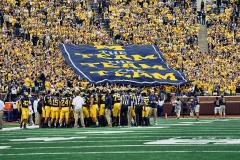
[{"label": "green football field with white markings in the foreground", "polygon": [[240,119],[160,119],[132,128],[0,131],[0,160],[239,160]]}]

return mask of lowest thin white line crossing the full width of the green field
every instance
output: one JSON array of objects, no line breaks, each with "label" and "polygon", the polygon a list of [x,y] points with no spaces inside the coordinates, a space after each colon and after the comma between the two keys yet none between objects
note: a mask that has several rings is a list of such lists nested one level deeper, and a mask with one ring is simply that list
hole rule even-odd
[{"label": "lowest thin white line crossing the full width of the green field", "polygon": [[0,156],[30,156],[30,155],[74,155],[74,154],[146,154],[146,153],[240,153],[240,151],[113,151],[113,152],[52,152],[52,153],[10,153]]}]

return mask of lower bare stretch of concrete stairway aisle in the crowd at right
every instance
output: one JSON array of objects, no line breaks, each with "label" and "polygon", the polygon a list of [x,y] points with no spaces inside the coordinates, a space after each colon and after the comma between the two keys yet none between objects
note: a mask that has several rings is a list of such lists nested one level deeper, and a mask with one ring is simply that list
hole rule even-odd
[{"label": "lower bare stretch of concrete stairway aisle in the crowd at right", "polygon": [[200,25],[198,33],[198,46],[202,53],[208,53],[207,26]]}]

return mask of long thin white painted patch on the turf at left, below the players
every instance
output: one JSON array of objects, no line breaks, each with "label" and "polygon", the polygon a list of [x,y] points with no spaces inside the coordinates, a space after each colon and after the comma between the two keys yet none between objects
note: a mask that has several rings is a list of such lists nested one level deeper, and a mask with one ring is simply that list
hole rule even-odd
[{"label": "long thin white painted patch on the turf at left, below the players", "polygon": [[31,137],[31,138],[23,138],[23,139],[10,139],[12,142],[26,142],[26,141],[65,141],[65,140],[73,140],[73,139],[83,139],[87,137]]}]

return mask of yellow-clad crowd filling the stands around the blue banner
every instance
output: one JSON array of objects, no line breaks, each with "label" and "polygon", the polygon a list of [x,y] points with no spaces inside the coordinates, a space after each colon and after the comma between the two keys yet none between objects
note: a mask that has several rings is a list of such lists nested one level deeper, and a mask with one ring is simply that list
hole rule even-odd
[{"label": "yellow-clad crowd filling the stands around the blue banner", "polygon": [[[98,3],[98,10],[91,3]],[[110,34],[99,14],[109,23]],[[240,80],[239,1],[206,4],[206,15],[209,54],[198,47],[196,0],[1,0],[1,92],[86,84],[64,63],[58,44],[117,43],[155,44],[169,65],[182,70],[197,88],[210,95],[214,90],[235,94]]]}]

